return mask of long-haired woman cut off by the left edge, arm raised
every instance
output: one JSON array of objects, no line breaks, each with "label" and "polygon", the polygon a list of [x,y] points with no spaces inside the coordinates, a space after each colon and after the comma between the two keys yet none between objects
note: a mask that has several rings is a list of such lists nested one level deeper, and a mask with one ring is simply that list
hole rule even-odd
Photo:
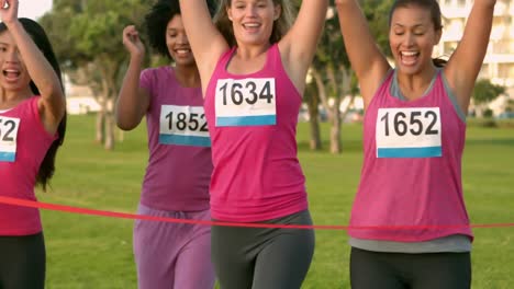
[{"label": "long-haired woman cut off by the left edge, arm raised", "polygon": [[[66,101],[45,31],[18,18],[18,0],[0,0],[0,196],[35,200],[55,171]],[[0,205],[0,288],[45,287],[40,211]]]}]

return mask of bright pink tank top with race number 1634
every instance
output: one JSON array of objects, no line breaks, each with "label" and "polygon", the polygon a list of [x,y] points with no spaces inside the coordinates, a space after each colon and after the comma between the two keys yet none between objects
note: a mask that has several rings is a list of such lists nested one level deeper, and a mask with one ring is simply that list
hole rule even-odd
[{"label": "bright pink tank top with race number 1634", "polygon": [[264,221],[308,208],[305,178],[297,158],[301,95],[282,67],[277,45],[264,68],[232,74],[225,53],[205,96],[214,171],[211,210],[214,219]]}]

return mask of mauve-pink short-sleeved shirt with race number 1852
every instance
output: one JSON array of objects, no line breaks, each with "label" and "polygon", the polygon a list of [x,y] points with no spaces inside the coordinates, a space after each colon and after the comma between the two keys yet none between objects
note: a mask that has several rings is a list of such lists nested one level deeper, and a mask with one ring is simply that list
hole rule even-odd
[{"label": "mauve-pink short-sleeved shirt with race number 1852", "polygon": [[150,95],[141,203],[166,211],[209,209],[211,140],[201,89],[181,86],[169,66],[144,70],[139,82]]}]

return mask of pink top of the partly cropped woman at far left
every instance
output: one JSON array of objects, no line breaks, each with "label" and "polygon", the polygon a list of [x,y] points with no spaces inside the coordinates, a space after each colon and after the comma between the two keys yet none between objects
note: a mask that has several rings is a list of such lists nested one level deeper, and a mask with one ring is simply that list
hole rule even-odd
[{"label": "pink top of the partly cropped woman at far left", "polygon": [[[34,186],[40,165],[52,142],[34,96],[0,113],[0,195],[36,200]],[[40,211],[0,204],[0,235],[30,235],[42,231]]]}]

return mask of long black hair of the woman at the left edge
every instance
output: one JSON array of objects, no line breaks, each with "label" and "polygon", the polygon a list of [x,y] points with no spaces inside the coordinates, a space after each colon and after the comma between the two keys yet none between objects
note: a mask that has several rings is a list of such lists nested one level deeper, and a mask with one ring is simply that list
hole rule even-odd
[{"label": "long black hair of the woman at the left edge", "polygon": [[[54,69],[55,73],[59,78],[60,88],[64,91],[63,79],[60,73],[59,62],[57,61],[57,57],[54,54],[54,49],[52,48],[52,44],[48,41],[48,36],[46,36],[45,31],[43,27],[35,21],[31,19],[20,18],[20,23],[23,25],[23,28],[26,33],[31,36],[32,41],[35,43],[37,48],[43,53],[46,60],[51,63],[52,68]],[[0,33],[7,31],[8,27],[4,23],[0,23]],[[35,85],[35,83],[31,80],[31,90],[34,95],[40,95],[40,90]],[[43,187],[43,190],[46,190],[46,186],[54,175],[55,172],[55,155],[57,153],[57,149],[63,144],[65,134],[66,134],[66,113],[63,116],[63,119],[57,127],[58,137],[54,142],[51,144],[48,151],[46,152],[43,162],[41,163],[40,171],[37,172],[36,176],[36,184]]]}]

